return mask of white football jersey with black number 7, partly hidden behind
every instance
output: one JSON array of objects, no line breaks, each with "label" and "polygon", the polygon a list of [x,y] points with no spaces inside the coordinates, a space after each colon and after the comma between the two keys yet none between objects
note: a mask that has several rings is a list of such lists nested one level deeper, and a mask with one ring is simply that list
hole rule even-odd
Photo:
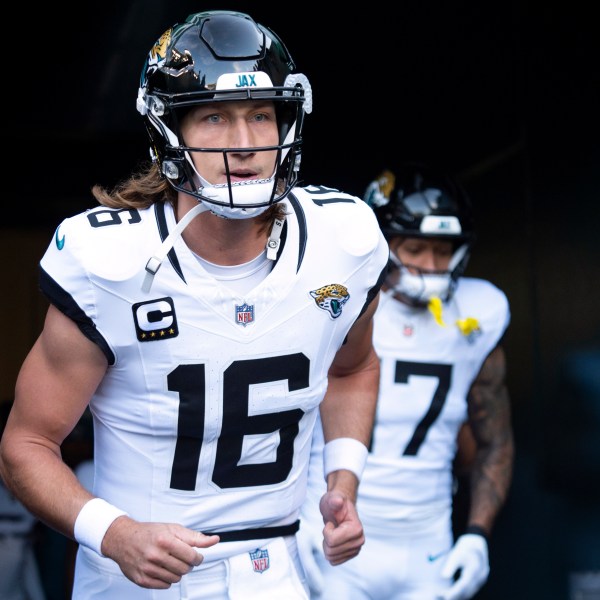
[{"label": "white football jersey with black number 7, partly hidden behind", "polygon": [[[366,531],[410,529],[452,505],[452,462],[467,394],[508,327],[508,301],[490,282],[462,277],[442,320],[381,294],[374,325],[379,399],[357,503]],[[313,503],[325,491],[319,429]]]}]

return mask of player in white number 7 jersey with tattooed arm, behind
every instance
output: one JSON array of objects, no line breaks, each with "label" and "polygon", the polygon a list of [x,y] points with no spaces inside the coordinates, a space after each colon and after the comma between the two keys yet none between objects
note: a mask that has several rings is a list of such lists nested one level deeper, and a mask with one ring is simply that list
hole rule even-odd
[{"label": "player in white number 7 jersey with tattooed arm, behind", "polygon": [[[454,177],[405,164],[375,179],[365,201],[390,245],[374,327],[379,400],[357,502],[366,542],[348,563],[331,568],[323,560],[323,521],[314,510],[324,485],[323,440],[316,428],[299,534],[303,561],[314,598],[466,600],[487,580],[488,540],[512,474],[502,348],[508,301],[491,282],[463,275],[474,224]],[[470,505],[454,540],[459,438]]]}]

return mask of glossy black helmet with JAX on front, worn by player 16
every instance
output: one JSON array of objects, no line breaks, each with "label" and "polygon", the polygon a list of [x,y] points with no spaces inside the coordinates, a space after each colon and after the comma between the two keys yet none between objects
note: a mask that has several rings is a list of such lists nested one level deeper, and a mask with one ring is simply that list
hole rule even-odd
[{"label": "glossy black helmet with JAX on front, worn by player 16", "polygon": [[[277,151],[273,176],[257,182],[207,182],[190,153],[221,153],[229,175],[229,153],[248,149],[187,147],[181,119],[199,104],[253,99],[273,101],[276,107],[279,144],[253,149]],[[208,203],[221,216],[246,218],[283,200],[296,184],[304,113],[312,110],[312,91],[272,30],[244,13],[210,10],[174,25],[151,48],[137,110],[150,137],[151,158],[176,190]]]}]

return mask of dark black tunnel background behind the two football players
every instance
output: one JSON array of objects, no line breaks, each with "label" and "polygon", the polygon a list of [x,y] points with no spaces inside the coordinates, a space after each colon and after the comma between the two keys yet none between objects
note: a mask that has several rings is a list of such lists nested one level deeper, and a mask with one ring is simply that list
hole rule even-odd
[{"label": "dark black tunnel background behind the two football players", "polygon": [[[477,598],[588,598],[575,594],[586,574],[600,577],[600,43],[577,3],[273,10],[111,0],[28,10],[5,67],[2,399],[43,323],[36,264],[52,232],[93,205],[93,184],[110,187],[148,157],[135,110],[146,53],[208,8],[270,26],[310,79],[303,183],[361,195],[408,159],[460,177],[478,230],[467,274],[501,287],[512,312],[515,476]],[[46,561],[49,600],[61,598]]]}]

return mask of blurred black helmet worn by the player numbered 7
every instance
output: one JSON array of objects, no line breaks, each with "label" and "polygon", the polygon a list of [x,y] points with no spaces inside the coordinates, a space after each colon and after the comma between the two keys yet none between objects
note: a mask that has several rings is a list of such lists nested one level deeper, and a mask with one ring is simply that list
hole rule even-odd
[{"label": "blurred black helmet worn by the player numbered 7", "polygon": [[373,208],[388,240],[402,236],[454,242],[449,268],[443,272],[404,265],[390,253],[390,266],[400,270],[399,279],[391,284],[395,292],[415,305],[426,305],[434,297],[448,301],[475,241],[471,202],[464,188],[448,173],[407,163],[396,173],[383,171],[367,187],[364,200]]}]

